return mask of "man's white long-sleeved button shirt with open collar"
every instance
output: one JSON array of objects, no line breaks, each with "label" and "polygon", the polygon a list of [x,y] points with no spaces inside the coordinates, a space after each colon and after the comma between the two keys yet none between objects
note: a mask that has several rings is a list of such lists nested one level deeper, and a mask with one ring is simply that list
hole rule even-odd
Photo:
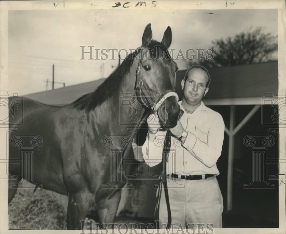
[{"label": "man's white long-sleeved button shirt with open collar", "polygon": [[[171,137],[171,148],[168,155],[167,174],[180,175],[219,174],[217,160],[221,156],[225,124],[218,112],[206,107],[203,102],[192,113],[184,111],[179,120],[188,132],[181,145],[178,138]],[[162,161],[164,139],[167,131],[149,133],[142,146],[145,162],[155,166]]]}]

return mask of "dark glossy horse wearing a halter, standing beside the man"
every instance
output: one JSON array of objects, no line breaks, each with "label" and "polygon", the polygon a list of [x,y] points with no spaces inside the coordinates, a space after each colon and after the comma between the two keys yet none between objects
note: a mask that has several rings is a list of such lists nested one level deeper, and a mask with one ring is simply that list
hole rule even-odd
[{"label": "dark glossy horse wearing a halter, standing beside the man", "polygon": [[25,179],[68,196],[67,229],[82,229],[95,204],[100,223],[113,223],[125,183],[114,178],[124,178],[118,165],[140,123],[152,111],[162,128],[180,117],[171,41],[170,27],[158,42],[148,24],[142,45],[94,92],[65,106],[23,98],[23,114],[9,113],[9,203]]}]

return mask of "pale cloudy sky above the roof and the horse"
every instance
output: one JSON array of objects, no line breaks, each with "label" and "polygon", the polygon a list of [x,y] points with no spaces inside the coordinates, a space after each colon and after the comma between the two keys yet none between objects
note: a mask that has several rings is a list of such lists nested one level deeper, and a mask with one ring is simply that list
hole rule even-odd
[{"label": "pale cloudy sky above the roof and the horse", "polygon": [[[18,10],[8,15],[9,95],[51,89],[52,66],[55,82],[65,86],[108,77],[118,65],[118,53],[107,60],[88,60],[82,48],[136,49],[151,23],[153,39],[161,41],[172,29],[174,55],[181,49],[208,49],[216,39],[262,27],[263,33],[278,34],[277,9],[241,10]],[[95,56],[95,50],[94,55]],[[122,56],[125,56],[122,51]],[[174,57],[173,57],[174,58]],[[176,60],[179,69],[186,62]],[[55,88],[63,84],[55,84]]]}]

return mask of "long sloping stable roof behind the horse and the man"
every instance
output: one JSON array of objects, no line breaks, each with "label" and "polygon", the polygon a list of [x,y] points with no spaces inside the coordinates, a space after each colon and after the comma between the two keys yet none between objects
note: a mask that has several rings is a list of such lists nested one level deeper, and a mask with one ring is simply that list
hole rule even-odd
[{"label": "long sloping stable roof behind the horse and the man", "polygon": [[[181,80],[186,70],[176,75],[176,92],[182,99]],[[210,89],[204,98],[206,105],[261,104],[265,93],[278,91],[278,62],[209,68]],[[25,95],[27,98],[52,105],[64,105],[93,92],[105,79],[64,88]]]}]

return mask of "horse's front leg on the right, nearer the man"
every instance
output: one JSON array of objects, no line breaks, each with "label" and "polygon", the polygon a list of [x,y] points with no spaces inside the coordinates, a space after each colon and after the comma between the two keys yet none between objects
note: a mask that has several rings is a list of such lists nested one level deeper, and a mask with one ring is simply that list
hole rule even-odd
[{"label": "horse's front leg on the right, nearer the man", "polygon": [[118,205],[121,198],[121,189],[116,191],[112,197],[102,199],[98,202],[98,216],[101,224],[107,224],[107,229],[112,229],[112,224],[117,213]]}]

